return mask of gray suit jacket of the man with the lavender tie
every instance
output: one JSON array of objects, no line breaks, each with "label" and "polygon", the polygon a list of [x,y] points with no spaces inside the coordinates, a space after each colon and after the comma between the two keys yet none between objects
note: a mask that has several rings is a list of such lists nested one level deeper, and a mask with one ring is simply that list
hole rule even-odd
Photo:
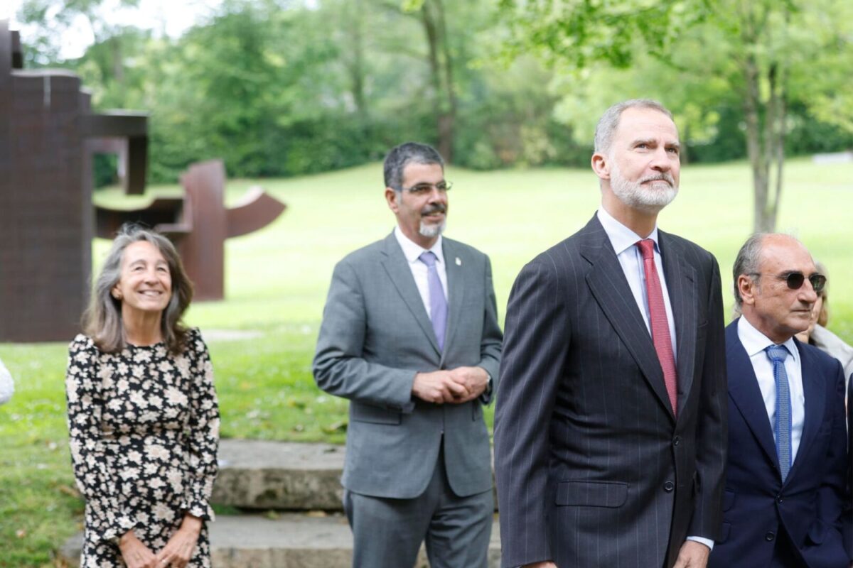
[{"label": "gray suit jacket of the man with the lavender tie", "polygon": [[417,372],[464,365],[483,367],[497,386],[502,334],[489,258],[449,238],[443,243],[449,301],[444,353],[393,233],[334,268],[314,378],[327,393],[351,401],[341,479],[349,491],[421,495],[442,440],[454,493],[491,489],[482,408],[490,394],[465,404],[431,404],[411,394]]}]

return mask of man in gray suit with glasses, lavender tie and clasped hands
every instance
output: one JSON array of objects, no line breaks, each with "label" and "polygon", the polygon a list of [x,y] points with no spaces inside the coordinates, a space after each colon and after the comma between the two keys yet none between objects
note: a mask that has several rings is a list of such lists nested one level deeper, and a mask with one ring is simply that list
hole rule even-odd
[{"label": "man in gray suit with glasses, lavender tie and clasped hands", "polygon": [[350,399],[341,483],[359,568],[486,566],[492,502],[483,405],[501,330],[489,258],[443,238],[450,183],[432,147],[385,160],[397,215],[386,238],[334,268],[314,358],[327,393]]}]

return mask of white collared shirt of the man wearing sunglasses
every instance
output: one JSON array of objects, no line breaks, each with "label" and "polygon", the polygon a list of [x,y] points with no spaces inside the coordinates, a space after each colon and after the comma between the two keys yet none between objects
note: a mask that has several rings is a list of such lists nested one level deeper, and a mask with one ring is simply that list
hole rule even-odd
[{"label": "white collared shirt of the man wearing sunglasses", "polygon": [[[761,331],[741,317],[738,320],[738,339],[749,355],[752,370],[758,380],[758,388],[764,399],[764,408],[767,409],[767,418],[770,429],[773,431],[773,439],[776,434],[776,381],[773,376],[773,362],[764,353],[764,349],[776,345]],[[785,358],[785,373],[788,376],[788,389],[791,393],[791,462],[797,457],[800,439],[803,438],[803,426],[805,423],[805,393],[803,390],[803,369],[800,362],[800,354],[793,338],[781,345],[788,350]]]}]

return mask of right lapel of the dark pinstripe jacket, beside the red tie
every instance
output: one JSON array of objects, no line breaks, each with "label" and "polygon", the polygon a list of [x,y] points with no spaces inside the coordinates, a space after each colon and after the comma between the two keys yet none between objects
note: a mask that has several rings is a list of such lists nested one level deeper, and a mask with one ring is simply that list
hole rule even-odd
[{"label": "right lapel of the dark pinstripe jacket, beside the red tie", "polygon": [[672,317],[676,323],[676,376],[678,380],[678,415],[687,402],[693,387],[693,366],[696,359],[696,325],[698,290],[696,269],[688,265],[676,240],[663,231],[658,231],[660,255],[664,262],[664,278],[670,295]]}]

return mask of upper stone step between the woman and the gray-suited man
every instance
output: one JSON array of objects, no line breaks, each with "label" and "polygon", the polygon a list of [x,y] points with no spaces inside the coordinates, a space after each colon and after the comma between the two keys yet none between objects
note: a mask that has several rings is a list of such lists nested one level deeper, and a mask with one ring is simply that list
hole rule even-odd
[{"label": "upper stone step between the woman and the gray-suited man", "polygon": [[339,511],[344,446],[250,439],[219,442],[211,501],[291,511]]}]

